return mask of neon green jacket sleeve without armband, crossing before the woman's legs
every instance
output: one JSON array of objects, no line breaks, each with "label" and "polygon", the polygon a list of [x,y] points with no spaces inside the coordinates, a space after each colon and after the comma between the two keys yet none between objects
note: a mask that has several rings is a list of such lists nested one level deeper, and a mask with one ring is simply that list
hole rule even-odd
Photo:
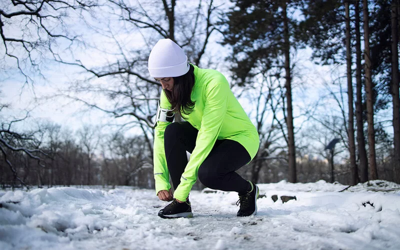
[{"label": "neon green jacket sleeve without armband, crossing before the woman's legs", "polygon": [[226,113],[227,96],[230,91],[229,84],[224,77],[209,82],[206,87],[203,116],[196,145],[182,173],[180,184],[173,194],[178,200],[186,200],[191,187],[197,180],[199,166],[214,146]]}]

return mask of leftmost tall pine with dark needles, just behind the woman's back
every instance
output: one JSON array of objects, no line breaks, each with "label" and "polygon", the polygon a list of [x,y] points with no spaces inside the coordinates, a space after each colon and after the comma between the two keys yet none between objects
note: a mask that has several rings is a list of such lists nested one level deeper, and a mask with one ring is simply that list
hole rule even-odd
[{"label": "leftmost tall pine with dark needles, just behind the woman's back", "polygon": [[[285,139],[288,147],[288,180],[296,182],[296,161],[291,96],[290,51],[298,45],[293,9],[300,0],[233,0],[223,22],[223,42],[232,46],[231,70],[239,84],[249,84],[257,68],[278,69],[284,78],[286,108]],[[282,75],[284,75],[282,77]]]}]

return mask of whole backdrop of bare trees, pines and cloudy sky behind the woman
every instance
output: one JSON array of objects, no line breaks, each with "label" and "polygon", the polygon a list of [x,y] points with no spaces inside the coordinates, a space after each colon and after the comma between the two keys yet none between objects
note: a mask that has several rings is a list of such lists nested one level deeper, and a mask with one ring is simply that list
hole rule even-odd
[{"label": "whole backdrop of bare trees, pines and cloudy sky behind the woman", "polygon": [[[0,184],[152,188],[160,38],[227,77],[257,183],[400,183],[398,0],[5,0]],[[196,188],[201,188],[196,183]]]}]

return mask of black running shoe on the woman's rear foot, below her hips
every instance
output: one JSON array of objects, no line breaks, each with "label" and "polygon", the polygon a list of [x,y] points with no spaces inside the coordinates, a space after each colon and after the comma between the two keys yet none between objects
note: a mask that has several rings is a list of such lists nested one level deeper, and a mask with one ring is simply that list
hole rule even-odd
[{"label": "black running shoe on the woman's rear foot, below her hips", "polygon": [[251,190],[244,194],[239,194],[239,200],[237,200],[236,205],[240,204],[240,208],[237,211],[236,216],[250,216],[257,213],[257,197],[258,197],[258,187],[253,182],[247,180],[251,185]]}]

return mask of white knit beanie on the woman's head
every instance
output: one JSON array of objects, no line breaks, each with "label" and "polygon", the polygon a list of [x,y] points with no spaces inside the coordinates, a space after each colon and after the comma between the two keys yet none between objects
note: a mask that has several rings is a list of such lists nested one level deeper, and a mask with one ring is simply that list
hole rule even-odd
[{"label": "white knit beanie on the woman's head", "polygon": [[160,39],[148,56],[148,71],[151,77],[183,75],[189,71],[187,56],[171,39]]}]

